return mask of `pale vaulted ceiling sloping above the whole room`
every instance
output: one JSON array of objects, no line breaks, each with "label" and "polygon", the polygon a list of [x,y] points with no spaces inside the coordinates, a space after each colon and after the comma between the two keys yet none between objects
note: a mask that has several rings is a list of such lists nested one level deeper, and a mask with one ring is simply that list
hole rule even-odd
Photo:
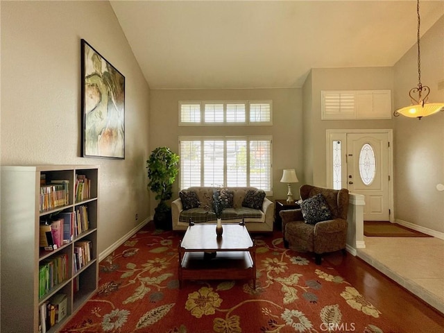
[{"label": "pale vaulted ceiling sloping above the whole room", "polygon": [[[111,1],[151,89],[301,87],[311,68],[393,66],[416,1]],[[420,2],[421,35],[444,1]]]}]

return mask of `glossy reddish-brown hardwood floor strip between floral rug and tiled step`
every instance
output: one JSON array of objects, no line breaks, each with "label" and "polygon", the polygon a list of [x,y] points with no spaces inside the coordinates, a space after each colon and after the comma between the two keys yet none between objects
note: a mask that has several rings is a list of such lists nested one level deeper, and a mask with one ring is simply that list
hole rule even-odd
[{"label": "glossy reddish-brown hardwood floor strip between floral rug and tiled step", "polygon": [[341,251],[323,259],[350,282],[379,311],[388,316],[399,333],[443,333],[444,315],[407,289],[393,282],[364,260]]}]

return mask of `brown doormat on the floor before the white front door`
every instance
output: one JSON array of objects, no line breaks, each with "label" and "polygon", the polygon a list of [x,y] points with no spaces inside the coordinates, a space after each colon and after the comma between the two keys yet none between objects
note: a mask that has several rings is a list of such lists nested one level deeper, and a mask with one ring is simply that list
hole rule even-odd
[{"label": "brown doormat on the floor before the white front door", "polygon": [[386,221],[364,221],[364,236],[368,237],[433,237]]}]

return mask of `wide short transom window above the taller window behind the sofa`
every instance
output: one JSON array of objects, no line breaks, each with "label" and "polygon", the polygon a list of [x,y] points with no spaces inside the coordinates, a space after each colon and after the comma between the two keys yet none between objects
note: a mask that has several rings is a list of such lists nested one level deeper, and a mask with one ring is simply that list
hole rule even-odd
[{"label": "wide short transom window above the taller window behind the sofa", "polygon": [[180,101],[179,126],[273,125],[273,101]]}]

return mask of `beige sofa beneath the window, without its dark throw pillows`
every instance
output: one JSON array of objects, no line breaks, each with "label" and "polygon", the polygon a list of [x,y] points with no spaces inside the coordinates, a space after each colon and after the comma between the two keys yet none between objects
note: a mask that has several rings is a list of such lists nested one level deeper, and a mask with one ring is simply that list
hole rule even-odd
[{"label": "beige sofa beneath the window, without its dark throw pillows", "polygon": [[[214,187],[189,187],[183,191],[194,191],[198,197],[198,207],[183,209],[182,200],[177,198],[171,203],[173,230],[187,230],[189,220],[194,223],[216,223],[216,216],[211,212]],[[220,188],[216,188],[220,189]],[[222,223],[239,223],[244,219],[250,232],[272,232],[274,204],[264,197],[262,207],[253,209],[243,207],[248,190],[257,191],[255,187],[224,187],[233,194],[233,206],[223,210]],[[251,194],[252,192],[250,192]]]}]

